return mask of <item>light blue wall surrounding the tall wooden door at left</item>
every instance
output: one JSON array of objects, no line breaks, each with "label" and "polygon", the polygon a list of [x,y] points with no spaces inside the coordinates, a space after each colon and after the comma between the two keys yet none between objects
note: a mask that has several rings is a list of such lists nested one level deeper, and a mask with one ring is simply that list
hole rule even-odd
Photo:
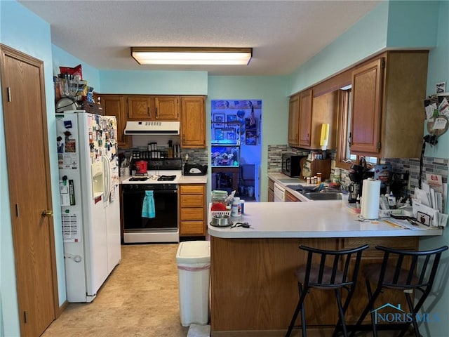
[{"label": "light blue wall surrounding the tall wooden door at left", "polygon": [[[51,154],[56,154],[55,105],[53,93],[53,70],[50,25],[16,1],[0,1],[0,43],[32,55],[43,61],[46,86],[46,107],[48,119],[48,142]],[[3,109],[0,106],[1,116]],[[31,113],[31,112],[30,112]],[[32,116],[30,116],[32,118]],[[20,336],[17,291],[15,288],[15,267],[13,237],[11,232],[11,213],[8,192],[8,172],[4,143],[4,121],[0,120],[0,233],[1,233],[1,306],[0,317],[4,336]],[[58,272],[58,296],[60,304],[66,300],[65,269],[62,245],[61,214],[59,200],[58,158],[50,157],[51,182],[53,193],[53,222],[55,227],[55,249]]]}]

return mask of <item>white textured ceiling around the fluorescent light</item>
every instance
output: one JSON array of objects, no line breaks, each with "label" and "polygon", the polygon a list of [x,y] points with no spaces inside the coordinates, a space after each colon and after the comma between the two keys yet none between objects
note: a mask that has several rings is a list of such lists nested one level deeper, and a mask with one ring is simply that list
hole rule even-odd
[{"label": "white textured ceiling around the fluorescent light", "polygon": [[[51,24],[53,44],[100,70],[201,70],[211,75],[290,74],[380,4],[380,0],[19,2]],[[131,58],[130,46],[253,47],[253,59],[248,66],[144,66]]]}]

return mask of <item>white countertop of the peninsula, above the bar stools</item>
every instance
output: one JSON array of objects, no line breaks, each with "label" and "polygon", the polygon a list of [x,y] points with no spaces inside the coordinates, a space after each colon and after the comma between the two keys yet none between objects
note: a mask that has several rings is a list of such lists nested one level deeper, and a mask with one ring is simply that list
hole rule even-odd
[{"label": "white countertop of the peninsula, above the bar stools", "polygon": [[[211,214],[209,212],[208,224]],[[389,220],[389,218],[383,218]],[[213,237],[221,238],[320,238],[320,237],[409,237],[436,236],[441,229],[426,226],[404,229],[386,223],[382,218],[361,221],[347,201],[316,202],[246,202],[245,213],[235,222],[248,222],[251,228],[214,227]]]}]

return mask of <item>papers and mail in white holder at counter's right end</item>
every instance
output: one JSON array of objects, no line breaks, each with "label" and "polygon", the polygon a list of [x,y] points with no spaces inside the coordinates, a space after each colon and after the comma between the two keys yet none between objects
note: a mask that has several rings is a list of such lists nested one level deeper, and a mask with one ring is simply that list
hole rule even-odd
[{"label": "papers and mail in white holder at counter's right end", "polygon": [[445,227],[449,217],[443,213],[448,184],[438,174],[427,173],[426,178],[427,183],[422,183],[421,189],[415,188],[413,217],[424,225]]}]

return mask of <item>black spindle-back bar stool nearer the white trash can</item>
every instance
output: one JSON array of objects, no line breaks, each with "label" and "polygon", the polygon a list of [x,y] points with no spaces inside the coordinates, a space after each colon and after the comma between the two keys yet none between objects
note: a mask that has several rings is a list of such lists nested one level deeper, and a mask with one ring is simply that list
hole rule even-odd
[{"label": "black spindle-back bar stool nearer the white trash can", "polygon": [[[335,326],[334,335],[337,329],[341,326],[344,336],[346,337],[347,328],[346,323],[344,322],[344,313],[346,312],[352,294],[354,293],[362,251],[368,248],[368,244],[356,249],[346,249],[342,251],[328,251],[307,246],[300,246],[299,248],[307,251],[307,264],[302,265],[295,272],[300,299],[297,302],[290,326],[288,326],[286,337],[289,337],[292,333],[297,316],[300,312],[302,336],[307,336],[304,299],[312,288],[333,290],[335,292],[340,319]],[[319,263],[312,263],[312,260],[319,260]],[[339,265],[342,265],[342,269],[339,268]],[[350,267],[352,267],[353,272],[349,277]],[[342,305],[341,289],[346,289],[348,292],[344,305]]]}]

